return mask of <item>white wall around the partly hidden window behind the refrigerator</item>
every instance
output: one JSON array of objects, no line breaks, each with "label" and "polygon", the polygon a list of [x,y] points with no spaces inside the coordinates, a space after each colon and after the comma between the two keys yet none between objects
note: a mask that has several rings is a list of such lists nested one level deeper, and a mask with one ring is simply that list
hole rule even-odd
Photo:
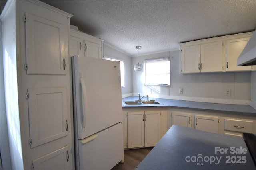
[{"label": "white wall around the partly hidden window behind the refrigerator", "polygon": [[132,95],[132,58],[124,53],[118,51],[114,47],[110,47],[106,43],[103,44],[104,56],[121,59],[124,61],[125,80],[124,87],[122,88],[122,97]]}]

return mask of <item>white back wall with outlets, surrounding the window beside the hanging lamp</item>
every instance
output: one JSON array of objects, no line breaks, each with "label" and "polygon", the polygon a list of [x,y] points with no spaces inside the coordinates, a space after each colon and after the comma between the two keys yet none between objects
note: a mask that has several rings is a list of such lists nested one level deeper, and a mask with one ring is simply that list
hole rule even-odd
[{"label": "white back wall with outlets, surrounding the window beside the hanging lamp", "polygon": [[[169,56],[172,58],[172,87],[144,86],[144,71],[132,70],[134,95],[140,93],[151,97],[199,102],[250,103],[251,72],[179,74],[179,51],[132,57],[132,65],[143,63],[145,59]],[[183,88],[183,94],[179,94],[179,88]],[[225,96],[225,90],[231,90],[231,96]]]}]

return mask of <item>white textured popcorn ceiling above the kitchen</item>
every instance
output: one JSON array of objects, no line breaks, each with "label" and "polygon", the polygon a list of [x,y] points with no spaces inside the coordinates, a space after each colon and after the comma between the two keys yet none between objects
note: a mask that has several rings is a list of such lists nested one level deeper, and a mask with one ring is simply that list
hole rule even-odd
[{"label": "white textured popcorn ceiling above the kitchen", "polygon": [[129,56],[179,49],[179,43],[254,31],[256,1],[46,0],[70,23]]}]

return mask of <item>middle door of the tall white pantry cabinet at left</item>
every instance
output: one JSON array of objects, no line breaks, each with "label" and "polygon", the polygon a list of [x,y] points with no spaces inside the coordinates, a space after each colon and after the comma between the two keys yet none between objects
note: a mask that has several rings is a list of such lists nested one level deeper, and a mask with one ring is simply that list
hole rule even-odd
[{"label": "middle door of the tall white pantry cabinet at left", "polygon": [[31,148],[68,135],[66,88],[28,89]]}]

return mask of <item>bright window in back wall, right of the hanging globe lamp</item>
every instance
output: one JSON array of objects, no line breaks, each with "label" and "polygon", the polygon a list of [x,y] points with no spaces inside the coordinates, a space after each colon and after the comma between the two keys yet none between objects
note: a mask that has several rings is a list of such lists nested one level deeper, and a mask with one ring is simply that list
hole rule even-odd
[{"label": "bright window in back wall, right of the hanging globe lamp", "polygon": [[145,61],[145,84],[171,86],[171,66],[168,57]]}]

